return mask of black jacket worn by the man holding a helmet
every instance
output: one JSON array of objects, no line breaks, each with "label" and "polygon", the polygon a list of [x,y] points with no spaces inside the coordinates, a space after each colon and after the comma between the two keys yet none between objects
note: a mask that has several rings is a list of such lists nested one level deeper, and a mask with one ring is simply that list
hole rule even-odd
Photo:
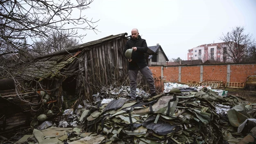
[{"label": "black jacket worn by the man holding a helmet", "polygon": [[145,53],[147,52],[147,49],[148,49],[146,40],[142,39],[140,35],[136,40],[131,38],[129,41],[125,43],[125,49],[123,51],[123,55],[125,56],[126,50],[131,49],[132,47],[137,47],[137,50],[133,51],[131,54],[132,61],[129,62],[128,69],[134,70],[136,69],[136,67],[143,68],[147,66],[147,61],[145,59]]}]

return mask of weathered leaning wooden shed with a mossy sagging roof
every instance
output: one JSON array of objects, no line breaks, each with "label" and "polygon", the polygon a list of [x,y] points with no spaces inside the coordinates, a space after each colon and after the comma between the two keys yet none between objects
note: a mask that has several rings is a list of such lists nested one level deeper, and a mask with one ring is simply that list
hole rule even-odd
[{"label": "weathered leaning wooden shed with a mossy sagging roof", "polygon": [[[91,95],[106,85],[121,85],[127,80],[128,62],[122,55],[127,33],[48,54],[28,63],[17,75],[28,87],[56,90],[72,89],[76,94]],[[147,56],[155,54],[148,49]],[[76,91],[75,91],[76,90]]]}]

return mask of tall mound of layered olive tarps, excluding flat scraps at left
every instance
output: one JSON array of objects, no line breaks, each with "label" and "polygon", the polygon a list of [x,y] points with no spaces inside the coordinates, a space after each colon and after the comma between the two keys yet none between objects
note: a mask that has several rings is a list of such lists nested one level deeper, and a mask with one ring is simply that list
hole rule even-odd
[{"label": "tall mound of layered olive tarps, excluding flat scraps at left", "polygon": [[238,97],[220,97],[207,88],[182,93],[174,88],[139,102],[120,97],[99,104],[84,121],[88,131],[121,143],[213,144],[238,142],[244,137],[238,126],[254,113],[254,105]]}]

